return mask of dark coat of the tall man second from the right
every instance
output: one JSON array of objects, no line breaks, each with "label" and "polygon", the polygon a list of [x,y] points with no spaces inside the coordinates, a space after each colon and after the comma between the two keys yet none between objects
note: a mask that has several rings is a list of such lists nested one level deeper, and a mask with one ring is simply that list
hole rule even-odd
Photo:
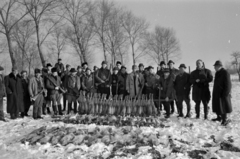
[{"label": "dark coat of the tall man second from the right", "polygon": [[[199,79],[200,82],[197,83],[197,79]],[[209,90],[209,83],[212,82],[212,80],[212,73],[208,69],[196,69],[191,73],[190,82],[193,85],[192,99],[194,101],[210,101],[211,94]]]}]

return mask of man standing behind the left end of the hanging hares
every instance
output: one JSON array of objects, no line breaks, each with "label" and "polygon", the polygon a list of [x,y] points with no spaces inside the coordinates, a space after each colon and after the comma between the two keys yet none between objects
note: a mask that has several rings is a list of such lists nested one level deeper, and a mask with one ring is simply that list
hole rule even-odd
[{"label": "man standing behind the left end of the hanging hares", "polygon": [[82,89],[86,91],[86,93],[95,93],[94,89],[94,74],[90,68],[86,69],[86,74],[82,78]]}]

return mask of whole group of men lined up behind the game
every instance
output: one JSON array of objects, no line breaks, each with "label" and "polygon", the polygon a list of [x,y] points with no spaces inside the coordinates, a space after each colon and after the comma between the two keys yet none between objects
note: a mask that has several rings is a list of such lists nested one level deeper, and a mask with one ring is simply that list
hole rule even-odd
[{"label": "whole group of men lined up behind the game", "polygon": [[[55,115],[62,115],[73,111],[77,113],[77,99],[80,92],[106,94],[107,98],[115,95],[140,98],[142,94],[149,97],[154,95],[154,103],[158,112],[166,111],[166,118],[175,112],[178,116],[183,115],[183,101],[187,105],[186,118],[191,117],[190,92],[192,89],[192,100],[195,102],[196,118],[200,118],[200,104],[203,104],[204,118],[208,119],[209,102],[211,93],[209,83],[213,81],[212,73],[206,69],[202,60],[197,60],[196,70],[186,72],[185,64],[179,69],[174,67],[172,60],[166,64],[162,61],[155,74],[152,66],[144,67],[133,65],[132,72],[127,73],[126,67],[117,62],[112,70],[108,69],[106,61],[101,63],[101,68],[94,66],[93,71],[84,62],[77,69],[66,65],[66,69],[58,59],[54,67],[50,63],[42,70],[35,69],[35,75],[28,79],[27,71],[18,74],[17,68],[3,78],[0,76],[0,119],[4,120],[2,112],[2,97],[6,92],[7,113],[12,119],[28,116],[30,105],[33,105],[33,118],[42,118],[42,113],[51,113],[52,107]],[[212,94],[212,110],[217,114],[213,121],[221,121],[226,125],[227,113],[231,113],[231,81],[229,73],[223,68],[221,61],[214,64],[216,70],[214,88]],[[0,70],[3,70],[0,67]],[[1,71],[0,71],[1,72]],[[63,97],[63,107],[61,99]],[[67,104],[68,103],[68,104]],[[72,109],[73,108],[73,109]]]}]

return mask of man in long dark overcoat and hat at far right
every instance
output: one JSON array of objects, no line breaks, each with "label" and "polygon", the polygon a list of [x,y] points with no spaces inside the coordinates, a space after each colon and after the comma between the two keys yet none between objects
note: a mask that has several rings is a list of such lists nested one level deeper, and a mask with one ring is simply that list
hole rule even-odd
[{"label": "man in long dark overcoat and hat at far right", "polygon": [[217,118],[213,121],[222,121],[222,125],[227,125],[229,122],[227,113],[232,112],[230,74],[223,68],[221,61],[216,61],[214,68],[216,74],[213,86],[212,110],[217,114]]}]

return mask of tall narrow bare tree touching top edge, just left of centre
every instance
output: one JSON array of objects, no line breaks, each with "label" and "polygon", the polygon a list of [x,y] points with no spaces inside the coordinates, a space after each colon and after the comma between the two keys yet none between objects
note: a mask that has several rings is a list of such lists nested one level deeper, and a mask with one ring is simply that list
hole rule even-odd
[{"label": "tall narrow bare tree touching top edge, just left of centre", "polygon": [[107,61],[107,35],[108,21],[111,16],[111,12],[115,8],[114,3],[109,0],[100,0],[97,2],[97,7],[92,12],[91,22],[94,26],[94,32],[96,33],[96,41],[100,48],[103,50],[104,60]]}]

